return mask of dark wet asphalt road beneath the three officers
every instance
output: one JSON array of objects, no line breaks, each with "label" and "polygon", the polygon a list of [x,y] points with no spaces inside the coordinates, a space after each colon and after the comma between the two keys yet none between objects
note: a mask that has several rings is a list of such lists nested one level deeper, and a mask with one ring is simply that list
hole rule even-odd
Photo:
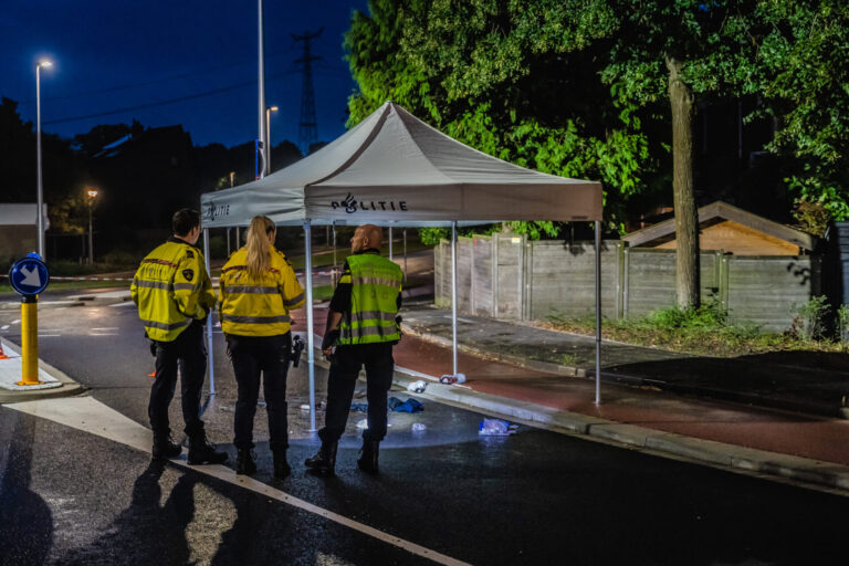
[{"label": "dark wet asphalt road beneath the three officers", "polygon": [[[0,336],[19,343],[17,318],[0,312]],[[43,308],[40,334],[43,359],[99,403],[147,424],[153,358],[132,306]],[[211,440],[234,455],[232,369],[223,347],[217,353],[218,395],[205,419]],[[325,380],[317,368],[319,399]],[[305,382],[302,365],[289,387],[293,475],[271,478],[260,408],[256,480],[443,557],[510,565],[846,563],[843,496],[530,427],[479,437],[481,415],[428,401],[422,413],[390,415],[379,478],[356,469],[364,415],[355,412],[337,478],[313,478],[303,468],[318,446],[300,409]],[[175,399],[177,429],[178,407]],[[427,430],[412,432],[413,422]],[[234,479],[153,464],[122,441],[0,407],[0,564],[432,563]]]}]

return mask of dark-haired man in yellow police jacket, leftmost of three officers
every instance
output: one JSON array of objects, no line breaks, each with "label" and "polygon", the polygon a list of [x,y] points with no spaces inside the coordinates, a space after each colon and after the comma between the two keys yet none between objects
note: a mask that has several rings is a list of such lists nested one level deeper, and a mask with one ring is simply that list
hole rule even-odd
[{"label": "dark-haired man in yellow police jacket, leftmost of three officers", "polygon": [[226,452],[207,441],[200,419],[200,396],[207,371],[203,321],[214,306],[212,282],[196,247],[200,237],[200,214],[181,209],[171,219],[174,235],[150,252],[139,265],[130,294],[138,306],[147,337],[156,354],[156,379],[150,388],[147,412],[154,431],[154,458],[175,458],[180,446],[171,439],[168,406],[180,368],[180,394],[190,464],[221,463]]}]

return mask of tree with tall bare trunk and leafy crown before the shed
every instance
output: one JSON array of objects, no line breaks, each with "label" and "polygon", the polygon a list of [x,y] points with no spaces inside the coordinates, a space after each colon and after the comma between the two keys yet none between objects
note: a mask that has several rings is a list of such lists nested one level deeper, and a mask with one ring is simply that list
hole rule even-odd
[{"label": "tree with tall bare trunk and leafy crown before the shed", "polygon": [[667,105],[672,119],[677,302],[698,306],[699,223],[693,190],[693,115],[696,98],[757,92],[755,43],[763,35],[754,0],[572,2],[578,20],[606,23],[609,55],[604,81],[621,102]]}]

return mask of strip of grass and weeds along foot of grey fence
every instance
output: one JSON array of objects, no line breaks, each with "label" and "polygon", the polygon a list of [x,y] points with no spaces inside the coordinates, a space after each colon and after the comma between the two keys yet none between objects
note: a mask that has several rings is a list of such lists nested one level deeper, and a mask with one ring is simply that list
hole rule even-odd
[{"label": "strip of grass and weeds along foot of grey fence", "polygon": [[[595,335],[596,317],[554,314],[543,326]],[[641,318],[601,321],[602,337],[636,346],[657,347],[693,355],[736,357],[773,352],[847,352],[845,343],[809,339],[795,332],[764,333],[754,324],[734,324],[716,304],[699,308],[665,308]]]}]

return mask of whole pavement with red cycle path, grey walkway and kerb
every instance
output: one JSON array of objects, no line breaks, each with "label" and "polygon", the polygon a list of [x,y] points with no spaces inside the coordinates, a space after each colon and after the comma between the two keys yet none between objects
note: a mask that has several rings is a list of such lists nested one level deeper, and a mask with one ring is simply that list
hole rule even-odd
[{"label": "whole pavement with red cycle path, grey walkway and kerb", "polygon": [[[712,366],[715,359],[605,342],[597,406],[595,382],[578,377],[591,376],[593,338],[463,315],[458,364],[467,381],[448,386],[437,379],[452,371],[450,312],[408,302],[402,315],[405,335],[395,348],[395,384],[407,387],[423,378],[428,388],[422,397],[713,467],[849,490],[849,421],[700,398],[733,394],[736,400],[792,401],[837,411],[834,401],[842,384],[849,382],[845,374],[829,379],[821,368],[780,364],[756,368],[757,361],[744,360],[745,367],[734,375],[759,387],[753,390],[732,387],[733,375],[727,371],[735,360]],[[326,306],[316,307],[314,316],[321,334]],[[557,363],[556,356],[564,352],[572,365]],[[750,369],[757,371],[750,376]],[[690,370],[694,373],[684,373]],[[808,375],[814,376],[811,382],[805,382]],[[690,395],[680,392],[684,390]]]}]

